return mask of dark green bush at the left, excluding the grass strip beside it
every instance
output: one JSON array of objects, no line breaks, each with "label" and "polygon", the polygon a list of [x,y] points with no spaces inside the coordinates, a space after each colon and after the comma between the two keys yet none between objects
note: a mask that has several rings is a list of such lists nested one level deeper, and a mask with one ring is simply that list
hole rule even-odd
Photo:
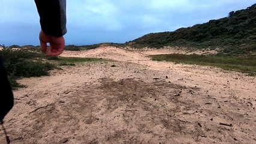
[{"label": "dark green bush at the left, excluding the grass strip beside it", "polygon": [[7,71],[11,86],[20,86],[16,82],[20,77],[40,77],[49,75],[48,71],[55,66],[44,62],[44,55],[25,50],[4,49],[0,51],[4,59],[4,67]]}]

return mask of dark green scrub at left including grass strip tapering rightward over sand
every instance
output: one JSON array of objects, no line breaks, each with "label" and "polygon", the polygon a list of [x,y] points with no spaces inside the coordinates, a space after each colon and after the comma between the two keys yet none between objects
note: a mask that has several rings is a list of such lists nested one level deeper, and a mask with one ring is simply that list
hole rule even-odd
[{"label": "dark green scrub at left including grass strip tapering rightward over sand", "polygon": [[7,71],[11,86],[22,87],[17,83],[21,77],[48,76],[49,71],[62,65],[75,65],[78,62],[103,61],[96,58],[61,58],[46,57],[39,49],[0,50],[0,56],[4,59],[4,67]]}]

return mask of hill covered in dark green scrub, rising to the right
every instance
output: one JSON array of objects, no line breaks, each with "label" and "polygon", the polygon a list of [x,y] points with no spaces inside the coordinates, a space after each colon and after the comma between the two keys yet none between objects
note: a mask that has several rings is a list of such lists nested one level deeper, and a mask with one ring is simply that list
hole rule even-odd
[{"label": "hill covered in dark green scrub, rising to the right", "polygon": [[144,35],[126,44],[132,47],[165,46],[196,49],[221,48],[229,55],[256,53],[256,4],[245,10],[231,11],[228,17],[207,23],[180,28],[174,32],[157,32]]}]

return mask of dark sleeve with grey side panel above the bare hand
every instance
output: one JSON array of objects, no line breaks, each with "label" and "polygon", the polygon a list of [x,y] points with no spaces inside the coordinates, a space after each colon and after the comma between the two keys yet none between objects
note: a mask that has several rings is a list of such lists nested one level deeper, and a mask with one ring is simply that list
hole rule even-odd
[{"label": "dark sleeve with grey side panel above the bare hand", "polygon": [[67,33],[66,0],[35,0],[35,5],[45,34],[61,37]]}]

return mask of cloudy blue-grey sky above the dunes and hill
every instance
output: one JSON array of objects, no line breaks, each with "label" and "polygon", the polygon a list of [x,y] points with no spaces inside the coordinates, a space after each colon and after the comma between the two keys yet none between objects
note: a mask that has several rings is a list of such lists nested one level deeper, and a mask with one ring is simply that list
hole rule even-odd
[{"label": "cloudy blue-grey sky above the dunes and hill", "polygon": [[[67,0],[66,44],[124,43],[227,17],[256,0]],[[0,0],[0,44],[38,45],[33,0]]]}]

